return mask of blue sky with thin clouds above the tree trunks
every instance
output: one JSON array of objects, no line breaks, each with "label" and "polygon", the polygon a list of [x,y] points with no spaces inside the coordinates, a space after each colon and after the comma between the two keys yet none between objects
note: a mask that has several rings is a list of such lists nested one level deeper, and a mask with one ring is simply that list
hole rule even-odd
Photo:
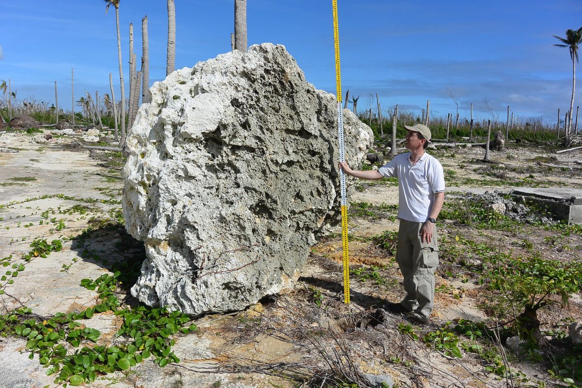
[{"label": "blue sky with thin clouds above the tree trunks", "polygon": [[[176,68],[230,50],[233,0],[175,0]],[[315,87],[335,94],[331,0],[248,0],[249,45],[283,44]],[[383,109],[395,104],[431,115],[491,118],[484,100],[504,121],[507,106],[520,118],[554,123],[569,109],[572,62],[553,47],[566,29],[582,26],[580,0],[414,1],[338,0],[342,88],[359,95],[363,110],[378,93]],[[54,102],[70,110],[84,90],[109,93],[109,73],[119,98],[115,9],[100,0],[0,0],[0,80],[17,98]],[[148,16],[150,83],[165,78],[167,10],[164,0],[121,0],[123,70],[129,72],[129,23],[141,57],[141,18]],[[138,66],[139,67],[139,66]],[[580,66],[577,66],[580,67]],[[577,72],[578,74],[582,74]],[[577,99],[582,102],[582,76]],[[127,91],[127,86],[126,86]],[[127,92],[126,92],[127,93]],[[78,109],[78,108],[77,108]],[[582,120],[582,118],[579,118]],[[579,124],[580,126],[580,124]]]}]

